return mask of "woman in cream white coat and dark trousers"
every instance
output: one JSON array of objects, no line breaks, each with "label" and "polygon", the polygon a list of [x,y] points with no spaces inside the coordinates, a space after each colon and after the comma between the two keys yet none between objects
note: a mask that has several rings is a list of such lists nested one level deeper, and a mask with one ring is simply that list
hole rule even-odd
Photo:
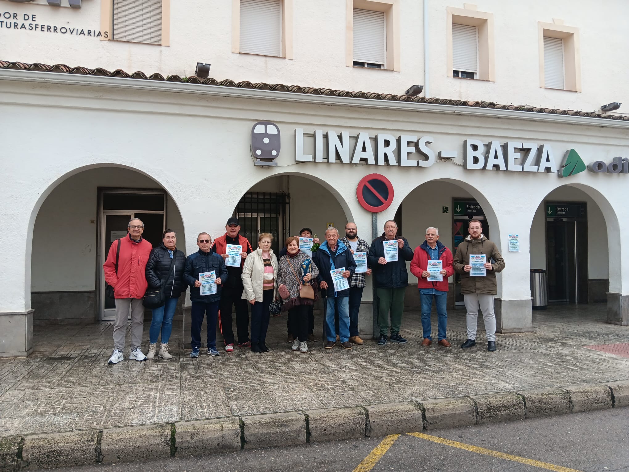
[{"label": "woman in cream white coat and dark trousers", "polygon": [[269,305],[276,299],[277,257],[270,249],[273,236],[262,233],[258,249],[251,252],[242,268],[242,298],[251,303],[251,350],[267,352],[264,344],[269,328]]}]

